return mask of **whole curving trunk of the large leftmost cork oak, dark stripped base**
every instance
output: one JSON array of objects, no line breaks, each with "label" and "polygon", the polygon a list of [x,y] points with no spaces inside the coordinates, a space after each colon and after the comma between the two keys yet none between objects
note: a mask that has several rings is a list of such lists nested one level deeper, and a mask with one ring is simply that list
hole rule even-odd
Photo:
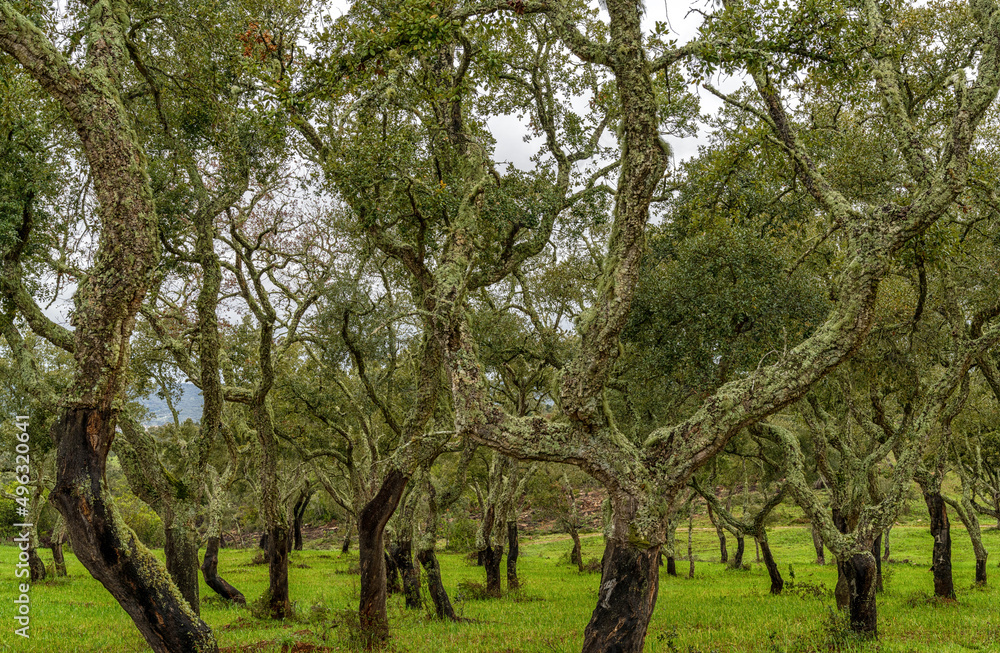
[{"label": "whole curving trunk of the large leftmost cork oak, dark stripped base", "polygon": [[146,157],[121,100],[128,7],[118,0],[86,5],[80,26],[86,52],[74,65],[9,2],[0,2],[0,49],[67,111],[97,195],[98,250],[74,298],[75,331],[42,329],[56,334],[56,344],[68,345],[77,363],[66,408],[52,431],[58,455],[50,501],[66,520],[77,557],[154,651],[215,651],[209,628],[121,523],[104,482],[117,406],[124,400],[129,337],[159,241]]}]

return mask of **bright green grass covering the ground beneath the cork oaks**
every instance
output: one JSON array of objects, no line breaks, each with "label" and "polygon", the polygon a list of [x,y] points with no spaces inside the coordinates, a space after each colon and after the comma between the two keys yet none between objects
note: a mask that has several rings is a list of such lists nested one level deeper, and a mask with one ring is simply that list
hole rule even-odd
[{"label": "bright green grass covering the ground beneath the cork oaks", "polygon": [[[843,623],[833,614],[833,565],[812,563],[811,540],[803,527],[777,527],[772,548],[786,581],[789,565],[793,587],[782,596],[768,594],[762,565],[754,563],[748,541],[750,571],[727,571],[718,564],[713,531],[694,534],[696,570],[693,579],[661,573],[656,612],[646,639],[650,652],[709,653],[710,651],[1000,651],[1000,611],[996,583],[1000,572],[990,566],[991,585],[971,587],[974,565],[965,531],[952,529],[956,603],[930,600],[933,589],[931,537],[926,526],[892,531],[892,557],[885,567],[886,592],[879,596],[876,644],[861,645],[843,638]],[[996,551],[1000,533],[985,533]],[[686,532],[678,532],[678,545]],[[599,558],[600,536],[584,539],[585,557]],[[566,563],[565,536],[542,536],[522,543],[520,576],[524,588],[499,600],[463,597],[461,581],[482,581],[482,569],[465,556],[443,554],[446,587],[457,610],[474,621],[440,623],[426,611],[407,610],[400,596],[389,599],[393,629],[391,649],[399,652],[500,653],[510,651],[578,651],[583,629],[594,607],[599,575],[581,574]],[[162,553],[162,552],[161,552]],[[220,572],[248,599],[267,584],[267,567],[252,565],[254,551],[223,550]],[[0,581],[3,627],[0,650],[23,653],[131,653],[149,650],[131,621],[111,596],[76,559],[67,555],[70,577],[36,584],[31,589],[31,638],[13,634],[10,618],[16,549],[0,547],[5,570]],[[48,559],[48,552],[43,552]],[[908,562],[907,562],[908,561]],[[358,576],[350,572],[356,553],[302,551],[292,554],[290,582],[297,618],[278,623],[256,619],[246,608],[223,606],[202,583],[202,616],[215,630],[224,651],[351,650],[352,616],[357,609]],[[687,561],[678,562],[686,576]],[[466,592],[468,594],[468,592]],[[818,594],[818,595],[817,595]],[[256,645],[256,646],[255,646]],[[328,647],[328,648],[320,648]]]}]

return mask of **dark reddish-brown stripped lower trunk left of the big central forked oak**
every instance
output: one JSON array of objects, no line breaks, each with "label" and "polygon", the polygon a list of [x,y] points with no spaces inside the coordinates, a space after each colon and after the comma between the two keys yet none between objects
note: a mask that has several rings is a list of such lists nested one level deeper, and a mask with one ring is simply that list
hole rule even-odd
[{"label": "dark reddish-brown stripped lower trunk left of the big central forked oak", "polygon": [[382,487],[358,515],[358,553],[361,563],[361,598],[358,614],[366,648],[374,648],[389,637],[389,618],[385,611],[385,525],[399,505],[409,479],[399,470],[391,470]]}]

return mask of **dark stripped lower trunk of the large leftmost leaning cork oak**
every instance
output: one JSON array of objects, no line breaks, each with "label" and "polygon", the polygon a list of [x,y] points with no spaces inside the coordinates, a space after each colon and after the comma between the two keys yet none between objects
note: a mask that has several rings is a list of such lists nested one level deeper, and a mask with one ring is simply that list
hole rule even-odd
[{"label": "dark stripped lower trunk of the large leftmost leaning cork oak", "polygon": [[101,445],[112,440],[113,420],[110,411],[66,409],[54,428],[59,463],[50,500],[66,520],[77,558],[121,604],[153,651],[215,653],[212,631],[114,508],[104,484],[107,445]]}]

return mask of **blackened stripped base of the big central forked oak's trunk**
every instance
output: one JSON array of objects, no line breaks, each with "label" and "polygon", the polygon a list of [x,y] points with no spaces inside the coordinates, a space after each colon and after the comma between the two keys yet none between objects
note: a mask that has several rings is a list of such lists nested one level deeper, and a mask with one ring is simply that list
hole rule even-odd
[{"label": "blackened stripped base of the big central forked oak's trunk", "polygon": [[642,653],[656,607],[660,547],[609,540],[604,548],[597,607],[583,635],[583,653]]}]

